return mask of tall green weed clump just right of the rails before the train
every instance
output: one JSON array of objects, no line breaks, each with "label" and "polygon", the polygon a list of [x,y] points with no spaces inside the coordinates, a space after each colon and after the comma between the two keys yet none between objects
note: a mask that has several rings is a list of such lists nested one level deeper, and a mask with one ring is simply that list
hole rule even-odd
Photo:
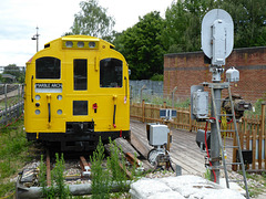
[{"label": "tall green weed clump just right of the rails before the train", "polygon": [[[126,169],[126,164],[124,160],[124,155],[121,147],[117,147],[115,142],[110,139],[110,157],[108,157],[106,169],[104,169],[104,146],[100,138],[96,150],[91,157],[91,171],[92,171],[92,198],[119,198],[120,196],[126,193],[130,188],[130,184],[124,170]],[[131,169],[131,180],[137,176],[135,172],[136,166]],[[119,192],[111,193],[112,187],[115,187]]]}]

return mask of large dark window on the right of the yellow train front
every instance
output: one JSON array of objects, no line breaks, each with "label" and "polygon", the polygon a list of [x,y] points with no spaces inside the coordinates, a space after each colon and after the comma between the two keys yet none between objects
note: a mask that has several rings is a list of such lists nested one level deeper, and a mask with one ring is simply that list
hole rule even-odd
[{"label": "large dark window on the right of the yellow train front", "polygon": [[123,62],[117,59],[100,61],[100,86],[122,87]]}]

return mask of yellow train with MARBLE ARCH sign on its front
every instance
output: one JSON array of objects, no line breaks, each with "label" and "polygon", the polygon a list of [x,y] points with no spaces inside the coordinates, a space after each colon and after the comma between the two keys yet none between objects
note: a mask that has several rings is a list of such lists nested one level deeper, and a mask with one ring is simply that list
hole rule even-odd
[{"label": "yellow train with MARBLE ARCH sign on its front", "polygon": [[129,65],[114,45],[69,35],[44,45],[27,62],[24,127],[28,140],[91,150],[130,138]]}]

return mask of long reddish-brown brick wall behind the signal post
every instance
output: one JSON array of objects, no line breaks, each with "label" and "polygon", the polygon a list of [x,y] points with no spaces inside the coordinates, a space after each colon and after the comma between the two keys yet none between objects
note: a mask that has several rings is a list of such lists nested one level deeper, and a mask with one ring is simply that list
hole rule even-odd
[{"label": "long reddish-brown brick wall behind the signal post", "polygon": [[[235,66],[241,81],[232,86],[233,93],[256,102],[266,98],[266,46],[235,49],[226,59],[225,70]],[[224,74],[225,76],[225,74]],[[164,55],[164,95],[170,96],[175,86],[176,98],[190,97],[191,86],[212,82],[208,64],[204,63],[203,52]]]}]

